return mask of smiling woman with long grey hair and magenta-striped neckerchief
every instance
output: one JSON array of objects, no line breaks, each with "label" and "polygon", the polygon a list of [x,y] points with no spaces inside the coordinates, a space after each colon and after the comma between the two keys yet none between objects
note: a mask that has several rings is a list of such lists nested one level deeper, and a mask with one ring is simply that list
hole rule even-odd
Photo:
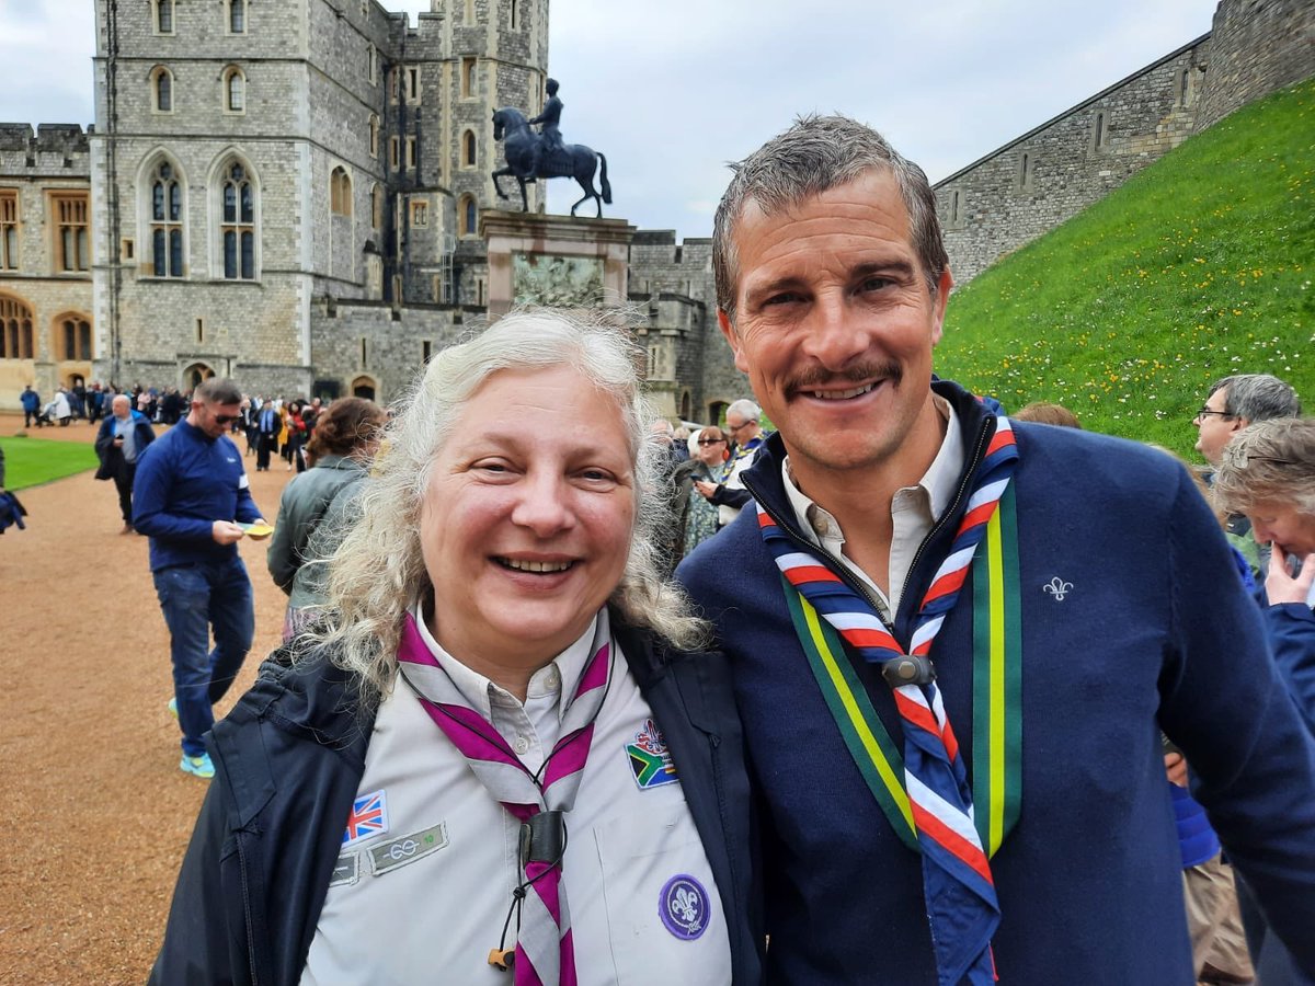
[{"label": "smiling woman with long grey hair and magenta-striped neckerchief", "polygon": [[740,730],[655,576],[634,367],[548,312],[431,360],[325,626],[212,734],[155,982],[757,981]]}]

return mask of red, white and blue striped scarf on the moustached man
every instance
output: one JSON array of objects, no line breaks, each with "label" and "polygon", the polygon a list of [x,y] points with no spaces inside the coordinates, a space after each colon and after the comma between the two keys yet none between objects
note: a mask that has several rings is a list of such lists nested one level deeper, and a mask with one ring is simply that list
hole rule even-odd
[{"label": "red, white and blue striped scarf on the moustached man", "polygon": [[972,986],[994,981],[990,940],[999,924],[999,903],[974,823],[964,759],[935,676],[924,674],[927,680],[917,684],[899,682],[917,676],[919,661],[909,656],[927,659],[945,615],[959,601],[973,553],[997,514],[1016,463],[1014,433],[1009,419],[998,415],[949,553],[918,610],[907,652],[859,593],[823,559],[801,550],[757,506],[759,527],[781,569],[788,597],[798,593],[809,613],[821,614],[847,649],[881,667],[892,685],[905,734],[903,787],[922,851],[923,894],[942,986],[959,986],[965,979]]}]

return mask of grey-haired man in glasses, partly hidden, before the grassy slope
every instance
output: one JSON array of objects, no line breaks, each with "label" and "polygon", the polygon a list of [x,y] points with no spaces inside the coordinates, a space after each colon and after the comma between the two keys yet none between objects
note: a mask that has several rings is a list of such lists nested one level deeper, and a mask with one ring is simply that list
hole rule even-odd
[{"label": "grey-haired man in glasses, partly hidden, before the grassy slope", "polygon": [[[1197,451],[1211,468],[1219,467],[1224,446],[1248,425],[1273,418],[1299,418],[1302,402],[1291,384],[1269,373],[1237,373],[1216,380],[1191,423],[1197,426]],[[1207,477],[1208,480],[1210,477]],[[1256,543],[1251,521],[1230,514],[1228,540],[1243,553],[1257,578],[1265,577],[1269,550]]]}]

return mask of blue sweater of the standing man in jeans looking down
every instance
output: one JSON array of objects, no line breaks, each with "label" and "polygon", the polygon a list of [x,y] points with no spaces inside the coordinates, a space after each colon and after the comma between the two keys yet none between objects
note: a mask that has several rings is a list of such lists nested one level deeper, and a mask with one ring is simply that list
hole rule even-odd
[{"label": "blue sweater of the standing man in jeans looking down", "polygon": [[214,542],[214,522],[259,519],[242,454],[227,435],[209,438],[180,421],[137,460],[133,527],[150,535],[153,572],[237,557],[237,544]]}]

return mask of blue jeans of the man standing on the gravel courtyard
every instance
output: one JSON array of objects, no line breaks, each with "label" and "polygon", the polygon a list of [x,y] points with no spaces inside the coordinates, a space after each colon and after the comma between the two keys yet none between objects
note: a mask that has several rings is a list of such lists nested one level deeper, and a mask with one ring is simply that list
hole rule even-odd
[{"label": "blue jeans of the man standing on the gravel courtyard", "polygon": [[183,752],[201,756],[201,738],[214,724],[210,706],[229,690],[255,636],[251,580],[239,557],[162,568],[154,578],[170,632]]}]

